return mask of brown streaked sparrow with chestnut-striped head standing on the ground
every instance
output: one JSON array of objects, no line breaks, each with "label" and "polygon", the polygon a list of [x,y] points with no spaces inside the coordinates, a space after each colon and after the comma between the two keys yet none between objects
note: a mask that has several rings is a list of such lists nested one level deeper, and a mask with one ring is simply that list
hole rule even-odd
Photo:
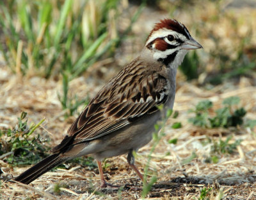
[{"label": "brown streaked sparrow with chestnut-striped head standing on the ground", "polygon": [[90,100],[52,154],[15,181],[29,184],[65,161],[92,155],[99,168],[100,187],[111,187],[104,179],[101,161],[123,154],[143,181],[132,152],[149,143],[156,122],[173,108],[177,68],[189,50],[198,48],[203,47],[184,24],[170,18],[157,22],[140,54]]}]

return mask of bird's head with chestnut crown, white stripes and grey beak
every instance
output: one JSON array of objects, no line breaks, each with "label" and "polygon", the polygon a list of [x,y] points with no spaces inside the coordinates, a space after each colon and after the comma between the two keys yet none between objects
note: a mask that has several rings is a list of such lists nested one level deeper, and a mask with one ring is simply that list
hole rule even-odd
[{"label": "bird's head with chestnut crown, white stripes and grey beak", "polygon": [[156,61],[166,66],[179,66],[188,50],[203,48],[192,36],[184,24],[166,18],[154,26],[145,48],[152,52]]}]

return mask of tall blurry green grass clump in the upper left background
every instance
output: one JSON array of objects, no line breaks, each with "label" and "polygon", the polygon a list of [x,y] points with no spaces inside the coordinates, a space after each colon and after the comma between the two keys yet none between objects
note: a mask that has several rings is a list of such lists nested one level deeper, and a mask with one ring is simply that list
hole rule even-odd
[{"label": "tall blurry green grass clump in the upper left background", "polygon": [[111,52],[118,39],[116,0],[0,4],[5,41],[0,49],[7,66],[21,75],[36,73],[49,78],[66,71],[74,78]]}]

